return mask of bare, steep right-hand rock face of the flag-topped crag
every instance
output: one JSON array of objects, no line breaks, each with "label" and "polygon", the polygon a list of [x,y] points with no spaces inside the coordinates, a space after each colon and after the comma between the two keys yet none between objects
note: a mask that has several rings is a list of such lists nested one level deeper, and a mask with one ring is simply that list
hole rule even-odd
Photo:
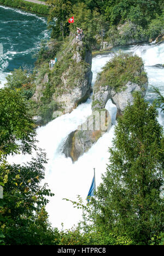
[{"label": "bare, steep right-hand rock face of the flag-topped crag", "polygon": [[[75,48],[74,48],[75,47]],[[75,39],[72,42],[72,63],[68,69],[62,74],[63,92],[52,98],[61,105],[61,108],[71,112],[81,102],[87,100],[91,94],[92,83],[92,54],[86,49],[83,42],[78,44]]]}]

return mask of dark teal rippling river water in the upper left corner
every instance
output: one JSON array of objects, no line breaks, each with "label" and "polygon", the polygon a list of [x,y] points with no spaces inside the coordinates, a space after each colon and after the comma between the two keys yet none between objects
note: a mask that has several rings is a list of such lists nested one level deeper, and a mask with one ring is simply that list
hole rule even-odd
[{"label": "dark teal rippling river water in the upper left corner", "polygon": [[14,68],[33,66],[40,40],[48,37],[46,18],[0,5],[0,86]]}]

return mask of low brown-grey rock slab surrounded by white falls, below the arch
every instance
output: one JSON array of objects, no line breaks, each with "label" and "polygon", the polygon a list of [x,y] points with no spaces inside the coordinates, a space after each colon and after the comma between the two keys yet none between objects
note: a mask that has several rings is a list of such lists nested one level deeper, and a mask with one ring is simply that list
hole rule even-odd
[{"label": "low brown-grey rock slab surrounded by white falls, below the arch", "polygon": [[106,109],[96,110],[87,121],[67,137],[63,153],[73,162],[87,152],[98,139],[112,126],[112,120]]}]

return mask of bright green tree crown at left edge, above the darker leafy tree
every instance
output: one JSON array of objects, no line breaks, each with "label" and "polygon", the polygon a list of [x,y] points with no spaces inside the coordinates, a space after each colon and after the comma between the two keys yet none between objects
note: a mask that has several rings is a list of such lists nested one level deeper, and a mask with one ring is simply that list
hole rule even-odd
[{"label": "bright green tree crown at left edge, above the darker leafy tree", "polygon": [[[0,149],[4,154],[31,153],[34,147],[34,122],[27,102],[17,90],[0,90]],[[16,143],[20,141],[21,143]]]}]

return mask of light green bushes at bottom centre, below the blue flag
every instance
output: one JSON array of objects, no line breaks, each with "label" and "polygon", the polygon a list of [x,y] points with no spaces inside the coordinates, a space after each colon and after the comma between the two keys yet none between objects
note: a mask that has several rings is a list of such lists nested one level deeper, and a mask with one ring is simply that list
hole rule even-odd
[{"label": "light green bushes at bottom centre, below the blue flag", "polygon": [[83,210],[83,220],[77,228],[61,231],[60,245],[133,245],[133,241],[126,235],[114,234],[95,223],[97,209],[95,211],[95,201],[92,198],[90,201],[92,202],[86,205],[80,196],[77,202],[71,201],[74,208]]}]

